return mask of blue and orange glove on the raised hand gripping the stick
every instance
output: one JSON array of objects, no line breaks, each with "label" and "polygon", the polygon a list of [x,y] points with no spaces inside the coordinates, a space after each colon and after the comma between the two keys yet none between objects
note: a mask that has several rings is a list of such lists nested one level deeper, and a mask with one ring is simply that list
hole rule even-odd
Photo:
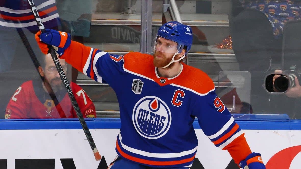
[{"label": "blue and orange glove on the raised hand gripping the stick", "polygon": [[69,33],[57,31],[54,29],[46,29],[46,32],[42,33],[39,31],[36,33],[35,38],[44,54],[46,53],[46,51],[49,51],[49,48],[40,41],[52,45],[59,56],[62,56],[64,54],[64,50],[67,49],[67,47],[69,47],[71,43],[71,36]]}]

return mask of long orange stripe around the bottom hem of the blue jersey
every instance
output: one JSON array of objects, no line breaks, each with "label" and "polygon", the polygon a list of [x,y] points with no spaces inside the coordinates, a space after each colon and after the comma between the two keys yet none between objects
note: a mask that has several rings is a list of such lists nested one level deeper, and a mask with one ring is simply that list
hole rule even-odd
[{"label": "long orange stripe around the bottom hem of the blue jersey", "polygon": [[126,154],[125,152],[123,152],[119,145],[118,142],[116,141],[116,148],[118,150],[118,152],[125,158],[138,162],[138,163],[142,163],[142,164],[147,164],[147,165],[157,165],[157,166],[164,166],[164,165],[177,165],[177,164],[184,164],[187,162],[191,162],[193,161],[195,155],[191,158],[186,158],[183,160],[177,160],[177,161],[151,161],[151,160],[145,160],[145,159],[141,159],[141,158],[137,158],[137,157],[133,157],[131,155]]}]

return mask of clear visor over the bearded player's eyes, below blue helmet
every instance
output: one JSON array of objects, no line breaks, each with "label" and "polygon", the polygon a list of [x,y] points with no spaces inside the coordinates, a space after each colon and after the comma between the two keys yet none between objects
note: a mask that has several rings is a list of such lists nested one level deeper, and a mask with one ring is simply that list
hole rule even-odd
[{"label": "clear visor over the bearded player's eyes, below blue helmet", "polygon": [[159,37],[157,40],[153,41],[152,48],[154,52],[160,51],[163,53],[177,53],[177,43],[174,41],[170,41],[168,39]]}]

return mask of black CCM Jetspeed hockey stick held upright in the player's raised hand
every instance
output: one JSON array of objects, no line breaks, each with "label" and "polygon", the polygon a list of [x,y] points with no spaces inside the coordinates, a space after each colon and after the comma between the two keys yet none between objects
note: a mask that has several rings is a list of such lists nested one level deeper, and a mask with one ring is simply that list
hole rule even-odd
[{"label": "black CCM Jetspeed hockey stick held upright in the player's raised hand", "polygon": [[[39,13],[38,13],[38,11],[37,11],[37,9],[36,9],[36,6],[35,6],[35,4],[33,3],[33,0],[28,0],[28,3],[29,3],[29,5],[30,5],[31,11],[33,11],[33,15],[34,15],[34,17],[35,17],[35,19],[36,19],[36,22],[37,22],[37,24],[38,24],[38,26],[39,26],[39,29],[41,30],[41,32],[46,32],[45,27],[44,27],[44,25],[43,25],[43,23],[42,23],[42,20],[41,20],[41,18],[40,18],[40,16],[39,16]],[[50,46],[50,45],[49,45],[49,46]],[[68,80],[67,80],[67,78],[66,78],[66,75],[65,75],[63,69],[62,69],[61,63],[60,63],[60,61],[58,60],[58,58],[57,58],[57,56],[56,56],[56,53],[55,53],[53,47],[50,46],[49,49],[50,49],[50,54],[51,54],[51,57],[52,57],[53,62],[54,62],[54,64],[55,64],[55,67],[57,68],[57,71],[58,71],[59,74],[60,74],[60,77],[61,77],[62,82],[63,82],[64,85],[66,86],[67,93],[69,94],[70,100],[71,100],[72,105],[73,105],[73,107],[74,107],[74,110],[75,110],[75,112],[76,112],[76,114],[77,114],[77,117],[78,117],[78,119],[79,119],[79,122],[80,122],[80,124],[82,125],[82,129],[84,130],[84,133],[85,133],[85,135],[86,135],[86,137],[87,137],[87,139],[88,139],[88,142],[89,142],[89,144],[90,144],[90,147],[91,147],[91,149],[92,149],[92,151],[93,151],[93,153],[94,153],[95,159],[98,161],[98,160],[101,159],[101,155],[99,154],[99,152],[98,152],[98,150],[97,150],[97,148],[96,148],[96,145],[95,145],[94,140],[93,140],[93,138],[92,138],[92,136],[91,136],[91,133],[90,133],[90,131],[89,131],[89,128],[88,128],[88,126],[87,126],[87,124],[86,124],[86,122],[85,122],[85,119],[84,119],[83,116],[82,116],[82,113],[80,112],[80,109],[79,109],[79,107],[78,107],[78,104],[77,104],[77,102],[76,102],[76,100],[75,100],[75,98],[74,98],[73,92],[72,92],[72,90],[71,90],[71,88],[70,88],[69,82],[68,82]]]}]

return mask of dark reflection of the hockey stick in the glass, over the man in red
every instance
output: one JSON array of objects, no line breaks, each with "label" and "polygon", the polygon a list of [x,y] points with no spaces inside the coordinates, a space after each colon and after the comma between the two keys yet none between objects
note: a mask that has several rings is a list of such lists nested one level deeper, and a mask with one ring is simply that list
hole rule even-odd
[{"label": "dark reflection of the hockey stick in the glass, over the man in red", "polygon": [[[26,47],[27,53],[29,54],[31,60],[33,61],[33,64],[35,65],[36,70],[38,71],[39,77],[41,78],[42,82],[44,82],[45,78],[42,77],[39,72],[39,67],[41,65],[40,65],[39,60],[37,59],[35,53],[33,52],[33,48],[30,46],[29,41],[26,38],[24,31],[22,30],[22,28],[17,28],[17,32],[18,32],[21,40],[23,41],[23,44]],[[50,87],[50,91],[53,92],[52,87],[51,86],[49,86],[49,87]],[[51,93],[51,92],[49,92],[49,93]],[[49,96],[50,96],[51,100],[54,101],[55,105],[58,105],[59,107],[61,107],[61,105],[59,104],[59,101],[57,100],[56,95],[49,94]],[[61,116],[61,118],[66,118],[66,115],[64,113],[59,112],[59,115]]]}]

